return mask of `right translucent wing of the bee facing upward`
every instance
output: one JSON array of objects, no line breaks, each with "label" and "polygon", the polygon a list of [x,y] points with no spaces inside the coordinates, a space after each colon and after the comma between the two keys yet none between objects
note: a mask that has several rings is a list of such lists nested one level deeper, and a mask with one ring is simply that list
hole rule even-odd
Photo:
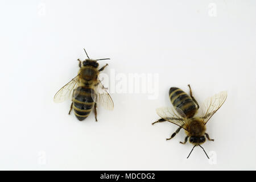
[{"label": "right translucent wing of the bee facing upward", "polygon": [[114,109],[114,102],[100,80],[98,80],[98,85],[95,88],[95,93],[96,96],[93,99],[97,104],[103,106],[105,109],[108,110]]}]

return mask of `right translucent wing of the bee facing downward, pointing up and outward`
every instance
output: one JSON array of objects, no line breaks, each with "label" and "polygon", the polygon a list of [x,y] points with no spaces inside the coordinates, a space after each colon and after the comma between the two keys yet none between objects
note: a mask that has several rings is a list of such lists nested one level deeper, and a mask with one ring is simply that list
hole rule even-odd
[{"label": "right translucent wing of the bee facing downward, pointing up and outward", "polygon": [[214,113],[216,113],[216,111],[218,109],[220,109],[220,107],[224,104],[227,96],[228,96],[227,92],[223,91],[223,92],[215,94],[214,96],[205,100],[204,105],[203,105],[204,106],[204,110],[203,110],[204,116],[201,117],[204,119],[205,125],[209,121],[209,119],[212,117],[212,115]]}]

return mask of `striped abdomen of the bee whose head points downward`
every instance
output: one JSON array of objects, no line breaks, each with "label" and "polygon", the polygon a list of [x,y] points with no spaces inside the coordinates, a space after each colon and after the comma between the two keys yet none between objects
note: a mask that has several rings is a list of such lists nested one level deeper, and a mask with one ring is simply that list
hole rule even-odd
[{"label": "striped abdomen of the bee whose head points downward", "polygon": [[[179,108],[176,110],[181,116],[192,118],[195,115],[198,108],[192,98],[188,96],[187,93],[183,92],[183,90],[172,87],[170,88],[169,96],[172,105]],[[180,110],[182,112],[180,112]]]}]

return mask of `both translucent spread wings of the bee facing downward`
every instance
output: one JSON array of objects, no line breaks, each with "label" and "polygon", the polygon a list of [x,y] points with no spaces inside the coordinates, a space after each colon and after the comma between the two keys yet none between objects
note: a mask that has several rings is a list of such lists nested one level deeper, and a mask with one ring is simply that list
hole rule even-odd
[{"label": "both translucent spread wings of the bee facing downward", "polygon": [[[210,98],[208,98],[203,105],[203,110],[201,110],[201,115],[199,118],[203,119],[204,124],[209,121],[214,113],[224,104],[226,97],[228,96],[227,92],[220,92]],[[174,123],[177,126],[182,127],[186,130],[186,121],[182,117],[183,111],[179,107],[160,107],[156,109],[156,113],[166,121]]]}]

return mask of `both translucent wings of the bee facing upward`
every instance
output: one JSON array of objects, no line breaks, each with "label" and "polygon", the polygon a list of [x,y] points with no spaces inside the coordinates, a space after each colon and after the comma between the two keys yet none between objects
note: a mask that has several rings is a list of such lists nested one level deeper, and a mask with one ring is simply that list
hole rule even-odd
[{"label": "both translucent wings of the bee facing upward", "polygon": [[[54,96],[53,101],[55,102],[63,102],[67,99],[71,100],[73,97],[73,90],[80,85],[79,75],[69,81],[66,85],[64,85]],[[104,86],[102,85],[101,81],[98,80],[97,86],[93,88],[96,97],[92,97],[94,102],[103,106],[105,109],[113,110],[114,109],[114,102],[110,97],[109,93],[106,91]]]}]

